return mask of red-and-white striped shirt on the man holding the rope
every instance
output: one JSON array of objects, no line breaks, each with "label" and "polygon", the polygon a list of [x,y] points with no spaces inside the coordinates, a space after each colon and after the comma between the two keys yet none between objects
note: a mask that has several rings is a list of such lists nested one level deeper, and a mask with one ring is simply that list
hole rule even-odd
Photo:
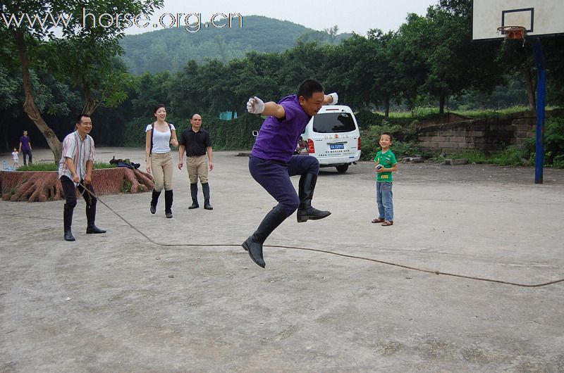
[{"label": "red-and-white striped shirt on the man holding the rope", "polygon": [[66,176],[73,179],[71,170],[66,165],[65,158],[71,158],[75,163],[76,175],[80,176],[80,180],[84,180],[86,175],[86,163],[89,160],[94,162],[94,139],[90,135],[86,135],[84,140],[75,131],[68,134],[63,140],[63,156],[59,162],[59,177]]}]

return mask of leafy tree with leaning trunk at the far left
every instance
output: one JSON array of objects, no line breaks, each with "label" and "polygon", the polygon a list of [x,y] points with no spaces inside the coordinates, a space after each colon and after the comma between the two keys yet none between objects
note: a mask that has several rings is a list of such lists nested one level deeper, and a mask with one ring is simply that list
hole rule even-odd
[{"label": "leafy tree with leaning trunk at the far left", "polygon": [[[88,11],[94,17],[104,13],[150,14],[155,8],[162,5],[162,0],[94,0],[87,2]],[[42,118],[41,110],[37,107],[30,69],[35,66],[38,70],[62,70],[62,75],[69,77],[71,81],[80,80],[80,87],[85,92],[85,108],[93,109],[89,94],[93,88],[92,84],[99,83],[100,76],[97,74],[99,70],[92,73],[92,66],[98,63],[102,71],[108,71],[107,61],[116,55],[117,40],[123,37],[126,24],[103,27],[92,22],[82,25],[82,11],[85,10],[85,2],[78,0],[12,1],[3,3],[0,9],[10,20],[9,25],[0,30],[0,37],[5,38],[3,49],[8,45],[11,51],[17,51],[17,56],[9,53],[8,58],[18,61],[22,70],[25,91],[23,108],[47,139],[54,160],[58,162],[61,158],[61,141]],[[63,25],[62,39],[54,32],[54,23]],[[50,44],[49,41],[53,43]],[[72,46],[75,48],[73,49]],[[59,49],[61,47],[71,48],[72,53],[67,53],[66,49]],[[94,64],[92,61],[81,58],[85,54],[84,48],[94,53],[91,56],[94,58]],[[57,68],[54,68],[54,63],[57,64]]]}]

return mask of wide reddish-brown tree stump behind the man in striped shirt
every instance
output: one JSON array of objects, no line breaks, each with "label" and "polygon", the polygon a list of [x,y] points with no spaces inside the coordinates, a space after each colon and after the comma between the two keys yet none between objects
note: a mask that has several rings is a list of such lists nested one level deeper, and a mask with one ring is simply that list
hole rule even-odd
[{"label": "wide reddish-brown tree stump behind the man in striped shirt", "polygon": [[[97,196],[142,193],[154,187],[151,175],[128,167],[92,170],[92,185]],[[4,201],[44,202],[64,198],[56,171],[0,171],[0,190]]]}]

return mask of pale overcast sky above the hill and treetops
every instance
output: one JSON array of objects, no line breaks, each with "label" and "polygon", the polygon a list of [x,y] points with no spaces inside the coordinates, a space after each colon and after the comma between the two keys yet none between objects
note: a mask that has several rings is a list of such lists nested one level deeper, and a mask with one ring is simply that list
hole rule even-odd
[{"label": "pale overcast sky above the hill and treetops", "polygon": [[[425,15],[430,5],[438,0],[164,0],[164,8],[157,11],[152,21],[164,13],[201,13],[202,24],[216,13],[240,13],[243,15],[264,15],[279,20],[289,20],[314,30],[324,30],[337,25],[339,33],[356,32],[366,35],[371,28],[384,32],[398,30],[405,23],[407,13]],[[192,16],[190,23],[197,18]],[[170,24],[170,18],[166,18]],[[128,34],[138,34],[160,27],[142,29],[131,27]]]}]

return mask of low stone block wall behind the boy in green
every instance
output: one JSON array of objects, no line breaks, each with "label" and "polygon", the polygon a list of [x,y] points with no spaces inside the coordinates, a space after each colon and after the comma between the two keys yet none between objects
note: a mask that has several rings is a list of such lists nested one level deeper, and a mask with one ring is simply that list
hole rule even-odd
[{"label": "low stone block wall behind the boy in green", "polygon": [[530,112],[515,113],[498,118],[427,125],[417,129],[417,136],[419,146],[426,151],[498,151],[508,145],[520,146],[525,139],[534,138],[536,121],[537,118]]}]

